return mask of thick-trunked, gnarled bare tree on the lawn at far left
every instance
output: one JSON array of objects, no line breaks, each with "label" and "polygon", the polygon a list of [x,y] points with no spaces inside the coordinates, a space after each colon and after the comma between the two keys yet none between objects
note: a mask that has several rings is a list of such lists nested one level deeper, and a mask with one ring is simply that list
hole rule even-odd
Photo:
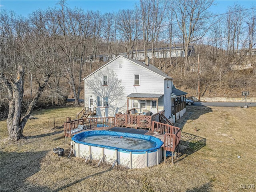
[{"label": "thick-trunked, gnarled bare tree on the lawn at far left", "polygon": [[[48,34],[43,33],[44,14],[35,14],[42,25],[31,25],[28,20],[13,12],[1,12],[1,71],[0,80],[8,90],[9,113],[7,128],[9,138],[23,138],[24,126],[40,98],[52,70],[54,46]],[[34,71],[38,83],[36,92],[22,112],[25,75]]]}]

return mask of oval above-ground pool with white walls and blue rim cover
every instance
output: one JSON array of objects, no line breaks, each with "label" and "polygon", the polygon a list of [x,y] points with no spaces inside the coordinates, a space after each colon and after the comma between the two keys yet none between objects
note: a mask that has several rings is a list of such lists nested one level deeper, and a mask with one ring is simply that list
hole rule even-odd
[{"label": "oval above-ground pool with white walls and blue rim cover", "polygon": [[114,131],[86,131],[72,137],[75,156],[86,160],[105,160],[127,168],[159,164],[162,144],[153,136]]}]

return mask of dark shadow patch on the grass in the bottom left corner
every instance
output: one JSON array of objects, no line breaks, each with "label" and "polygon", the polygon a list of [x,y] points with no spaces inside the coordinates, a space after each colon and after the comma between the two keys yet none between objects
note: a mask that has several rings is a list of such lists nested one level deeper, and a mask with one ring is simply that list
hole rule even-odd
[{"label": "dark shadow patch on the grass in the bottom left corner", "polygon": [[[2,152],[1,157],[1,191],[50,191],[43,186],[30,186],[26,179],[40,171],[40,161],[48,151],[37,152]],[[29,156],[29,158],[28,158]]]}]

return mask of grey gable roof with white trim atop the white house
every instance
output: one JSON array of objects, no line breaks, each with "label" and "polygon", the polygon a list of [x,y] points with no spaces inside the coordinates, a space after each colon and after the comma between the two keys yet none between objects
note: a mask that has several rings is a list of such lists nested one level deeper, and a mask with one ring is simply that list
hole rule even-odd
[{"label": "grey gable roof with white trim atop the white house", "polygon": [[105,65],[103,65],[102,67],[98,68],[96,71],[92,72],[90,75],[86,76],[85,78],[83,78],[83,80],[85,80],[86,78],[88,78],[89,76],[91,76],[92,74],[94,74],[95,72],[97,72],[98,70],[102,69],[103,67],[105,67],[106,65],[108,65],[109,63],[113,62],[114,60],[116,60],[117,58],[125,58],[127,60],[130,60],[131,62],[133,62],[134,64],[137,64],[139,66],[142,66],[143,68],[150,70],[152,72],[154,72],[155,74],[158,74],[159,76],[162,76],[163,78],[166,79],[172,79],[171,77],[169,77],[167,74],[165,74],[164,72],[162,72],[160,69],[156,68],[155,66],[149,64],[149,66],[147,66],[146,64],[144,64],[143,62],[140,62],[138,60],[135,59],[131,59],[131,58],[127,58],[124,56],[117,56],[116,58],[114,58],[113,60],[111,60],[110,62],[106,63]]}]

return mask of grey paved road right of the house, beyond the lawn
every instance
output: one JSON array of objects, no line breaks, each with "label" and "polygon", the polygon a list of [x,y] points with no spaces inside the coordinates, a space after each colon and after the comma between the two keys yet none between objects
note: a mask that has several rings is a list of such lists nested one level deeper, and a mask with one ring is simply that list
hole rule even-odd
[{"label": "grey paved road right of the house, beyond the lawn", "polygon": [[[216,107],[243,107],[245,102],[195,102],[194,106],[216,106]],[[255,107],[256,103],[246,102],[248,107]]]}]

